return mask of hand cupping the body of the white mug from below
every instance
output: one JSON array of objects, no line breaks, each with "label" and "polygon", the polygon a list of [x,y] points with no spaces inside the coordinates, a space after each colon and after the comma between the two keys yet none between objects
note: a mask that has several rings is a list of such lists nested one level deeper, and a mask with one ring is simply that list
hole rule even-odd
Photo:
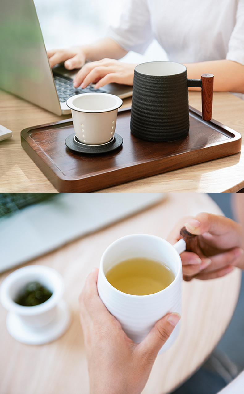
[{"label": "hand cupping the body of the white mug from below", "polygon": [[79,297],[90,394],[139,394],[146,385],[159,349],[180,316],[167,314],[141,343],[135,344],[98,296],[97,277],[98,269],[94,269]]}]

